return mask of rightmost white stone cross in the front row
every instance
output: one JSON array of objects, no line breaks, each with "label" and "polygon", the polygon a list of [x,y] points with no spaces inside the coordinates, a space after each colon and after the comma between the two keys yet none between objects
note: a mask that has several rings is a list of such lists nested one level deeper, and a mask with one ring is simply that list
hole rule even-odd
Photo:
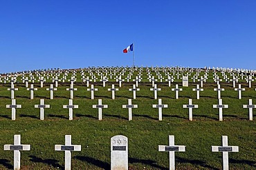
[{"label": "rightmost white stone cross in the front row", "polygon": [[212,146],[212,152],[222,152],[222,169],[228,170],[228,152],[239,152],[239,147],[228,146],[228,136],[222,136],[222,146]]}]

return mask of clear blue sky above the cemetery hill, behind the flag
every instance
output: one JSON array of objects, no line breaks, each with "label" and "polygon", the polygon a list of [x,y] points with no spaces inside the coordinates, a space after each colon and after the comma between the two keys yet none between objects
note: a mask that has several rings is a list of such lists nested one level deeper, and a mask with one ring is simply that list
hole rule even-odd
[{"label": "clear blue sky above the cemetery hill, behind the flag", "polygon": [[0,72],[132,65],[256,70],[255,0],[0,0]]}]

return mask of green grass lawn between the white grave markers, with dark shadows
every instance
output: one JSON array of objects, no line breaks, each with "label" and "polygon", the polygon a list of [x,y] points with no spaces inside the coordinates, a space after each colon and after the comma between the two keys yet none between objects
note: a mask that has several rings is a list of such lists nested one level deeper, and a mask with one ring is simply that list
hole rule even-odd
[{"label": "green grass lawn between the white grave markers, with dark shadows", "polygon": [[[156,76],[155,72],[152,74]],[[46,91],[50,81],[43,88],[39,87],[39,83],[34,84],[38,90],[34,92],[33,100],[30,100],[30,92],[24,83],[15,84],[19,88],[15,91],[16,102],[22,105],[21,109],[17,109],[16,120],[11,120],[11,109],[6,109],[6,105],[11,103],[10,91],[7,91],[10,84],[0,85],[0,145],[13,144],[15,134],[21,134],[21,144],[31,145],[30,151],[21,151],[21,169],[64,169],[64,151],[54,151],[54,145],[64,145],[66,134],[72,135],[74,145],[82,145],[82,151],[72,152],[72,169],[109,169],[110,138],[119,134],[129,140],[129,169],[168,169],[168,153],[159,152],[158,145],[167,145],[169,135],[175,136],[176,145],[186,145],[185,152],[175,153],[176,169],[221,169],[222,154],[213,153],[211,146],[221,145],[223,135],[228,136],[229,145],[239,146],[238,153],[229,154],[230,169],[256,169],[256,116],[249,121],[248,109],[242,107],[248,104],[249,98],[256,103],[256,92],[255,87],[249,89],[244,80],[241,83],[246,91],[242,92],[241,100],[237,98],[232,83],[221,83],[221,87],[225,88],[221,92],[223,104],[229,105],[228,109],[223,109],[223,122],[219,122],[218,109],[212,108],[218,100],[217,92],[213,91],[217,85],[212,81],[211,72],[199,100],[196,100],[196,92],[192,91],[197,82],[192,83],[191,79],[190,87],[182,87],[178,100],[171,88],[176,83],[181,87],[181,80],[175,80],[172,87],[168,87],[167,83],[158,83],[162,89],[158,98],[168,105],[163,109],[163,121],[158,121],[158,109],[152,108],[158,100],[154,100],[154,92],[149,90],[152,85],[143,72],[140,91],[132,100],[138,108],[133,109],[133,120],[128,121],[128,109],[122,109],[122,105],[132,98],[133,93],[128,89],[133,83],[124,83],[122,87],[118,87],[113,80],[106,87],[95,83],[98,92],[91,100],[91,92],[86,91],[89,87],[82,84],[80,78],[77,72],[73,104],[79,105],[79,108],[73,109],[73,120],[68,120],[68,109],[62,108],[62,105],[68,104],[70,97],[70,92],[66,91],[69,83],[59,83],[53,100],[49,99],[50,92]],[[20,76],[18,80],[21,82]],[[115,100],[107,91],[112,83],[119,88]],[[34,108],[34,105],[39,105],[40,98],[51,105],[50,109],[45,109],[45,120],[39,120],[39,109]],[[92,105],[98,104],[98,98],[102,98],[102,104],[109,105],[109,108],[103,109],[101,121],[98,120],[98,109],[92,108]],[[188,109],[182,107],[188,104],[188,98],[199,105],[198,109],[193,109],[193,121],[188,120]],[[13,151],[1,149],[0,156],[0,169],[12,169]]]}]

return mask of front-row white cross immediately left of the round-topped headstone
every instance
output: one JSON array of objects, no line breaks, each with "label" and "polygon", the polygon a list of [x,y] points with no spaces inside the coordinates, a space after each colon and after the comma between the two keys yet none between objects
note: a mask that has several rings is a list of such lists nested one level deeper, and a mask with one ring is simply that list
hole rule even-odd
[{"label": "front-row white cross immediately left of the round-topped headstone", "polygon": [[81,151],[81,145],[71,143],[71,135],[65,135],[65,145],[55,145],[55,151],[65,151],[65,170],[71,170],[71,151]]}]

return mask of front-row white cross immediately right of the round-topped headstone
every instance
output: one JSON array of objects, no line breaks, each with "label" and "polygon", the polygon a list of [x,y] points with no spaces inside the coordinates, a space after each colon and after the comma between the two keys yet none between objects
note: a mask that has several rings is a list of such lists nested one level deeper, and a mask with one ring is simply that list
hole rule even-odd
[{"label": "front-row white cross immediately right of the round-topped headstone", "polygon": [[175,151],[185,151],[185,145],[174,145],[174,136],[169,136],[169,146],[158,145],[158,151],[169,151],[169,169],[175,170]]}]

